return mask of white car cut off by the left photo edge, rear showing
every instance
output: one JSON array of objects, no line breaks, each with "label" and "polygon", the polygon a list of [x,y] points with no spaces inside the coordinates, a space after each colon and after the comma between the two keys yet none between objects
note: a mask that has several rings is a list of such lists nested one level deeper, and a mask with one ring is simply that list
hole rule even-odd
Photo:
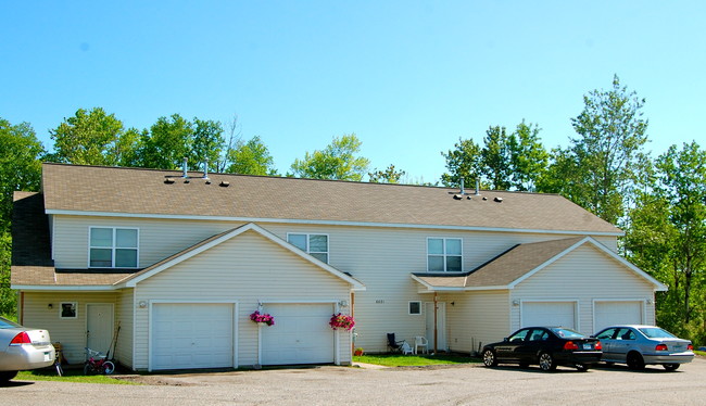
[{"label": "white car cut off by the left photo edge, rear showing", "polygon": [[0,317],[0,383],[18,371],[53,365],[55,354],[49,331],[22,327]]}]

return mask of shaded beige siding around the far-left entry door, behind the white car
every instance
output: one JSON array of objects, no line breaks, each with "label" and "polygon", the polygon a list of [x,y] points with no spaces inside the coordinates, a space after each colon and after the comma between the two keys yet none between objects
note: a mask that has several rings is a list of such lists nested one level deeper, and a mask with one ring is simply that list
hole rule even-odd
[{"label": "shaded beige siding around the far-left entry door, behind the white car", "polygon": [[[80,292],[25,292],[22,308],[22,323],[27,327],[41,328],[49,331],[52,342],[60,342],[63,353],[70,364],[81,364],[86,359],[86,304],[108,303],[115,305],[119,294],[110,293],[80,293]],[[76,302],[77,318],[60,318],[60,303]],[[49,304],[53,308],[48,308]],[[118,306],[114,306],[113,317],[115,325],[119,319]],[[101,350],[105,351],[105,350]],[[121,363],[124,358],[117,358]]]}]

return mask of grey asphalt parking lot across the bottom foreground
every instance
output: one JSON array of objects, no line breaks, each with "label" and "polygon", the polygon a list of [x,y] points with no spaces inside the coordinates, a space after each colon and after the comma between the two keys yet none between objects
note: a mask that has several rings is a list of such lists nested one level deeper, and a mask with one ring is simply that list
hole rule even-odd
[{"label": "grey asphalt parking lot across the bottom foreground", "polygon": [[[126,377],[129,378],[129,377]],[[144,385],[13,381],[2,405],[705,405],[706,359],[678,371],[479,365],[319,367],[139,378]]]}]

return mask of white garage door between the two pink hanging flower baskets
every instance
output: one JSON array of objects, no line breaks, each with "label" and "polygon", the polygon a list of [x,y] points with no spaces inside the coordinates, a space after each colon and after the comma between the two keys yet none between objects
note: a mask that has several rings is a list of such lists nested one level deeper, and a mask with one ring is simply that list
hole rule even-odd
[{"label": "white garage door between the two pink hanging flower baskets", "polygon": [[275,326],[263,326],[262,365],[335,361],[335,332],[328,325],[332,304],[266,304]]}]

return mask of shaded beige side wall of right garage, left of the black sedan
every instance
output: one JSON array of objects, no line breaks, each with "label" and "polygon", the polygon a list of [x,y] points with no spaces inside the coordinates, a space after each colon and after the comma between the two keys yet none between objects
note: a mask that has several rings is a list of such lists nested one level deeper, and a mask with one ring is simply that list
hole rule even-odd
[{"label": "shaded beige side wall of right garage, left of the black sedan", "polygon": [[472,354],[479,346],[501,341],[510,332],[509,291],[443,294],[440,300],[446,302],[447,341],[452,352]]}]

